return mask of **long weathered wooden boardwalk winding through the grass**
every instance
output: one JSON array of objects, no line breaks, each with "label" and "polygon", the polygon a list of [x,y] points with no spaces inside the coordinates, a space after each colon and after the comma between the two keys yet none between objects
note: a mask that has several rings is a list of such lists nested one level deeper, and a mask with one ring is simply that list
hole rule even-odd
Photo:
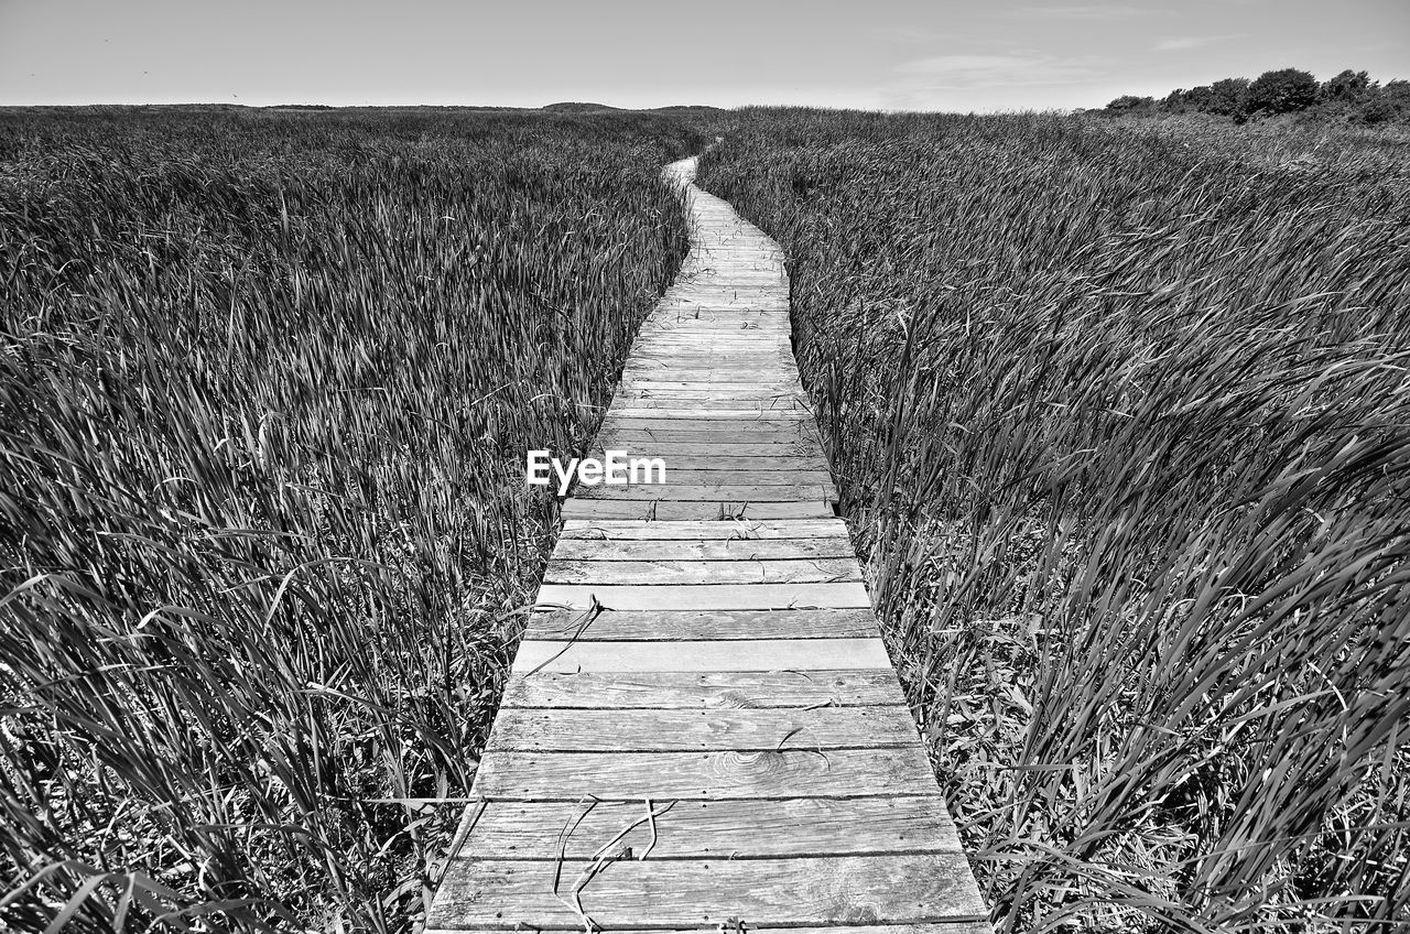
[{"label": "long weathered wooden boardwalk winding through the grass", "polygon": [[691,258],[595,451],[668,483],[564,504],[427,927],[987,933],[833,512],[780,250],[687,196]]}]

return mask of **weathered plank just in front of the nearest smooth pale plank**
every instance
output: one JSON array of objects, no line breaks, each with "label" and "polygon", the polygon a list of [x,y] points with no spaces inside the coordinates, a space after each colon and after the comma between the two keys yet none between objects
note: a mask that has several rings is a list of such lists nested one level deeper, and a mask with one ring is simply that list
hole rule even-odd
[{"label": "weathered plank just in front of the nearest smooth pale plank", "polygon": [[582,710],[904,704],[884,669],[816,672],[540,672],[509,679],[501,707]]}]

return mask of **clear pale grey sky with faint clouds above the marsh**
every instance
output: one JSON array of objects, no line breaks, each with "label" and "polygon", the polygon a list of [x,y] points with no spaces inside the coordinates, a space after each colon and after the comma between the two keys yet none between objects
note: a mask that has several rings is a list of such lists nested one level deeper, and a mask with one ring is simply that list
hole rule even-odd
[{"label": "clear pale grey sky with faint clouds above the marsh", "polygon": [[1410,79],[1410,0],[0,0],[0,104],[1100,107]]}]

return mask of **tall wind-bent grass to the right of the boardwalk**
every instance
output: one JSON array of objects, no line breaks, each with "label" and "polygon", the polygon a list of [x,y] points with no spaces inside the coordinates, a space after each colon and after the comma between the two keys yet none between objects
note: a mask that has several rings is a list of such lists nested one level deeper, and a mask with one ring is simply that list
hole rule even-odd
[{"label": "tall wind-bent grass to the right of the boardwalk", "polygon": [[1410,918],[1410,145],[1239,133],[754,111],[701,165],[1004,931]]}]

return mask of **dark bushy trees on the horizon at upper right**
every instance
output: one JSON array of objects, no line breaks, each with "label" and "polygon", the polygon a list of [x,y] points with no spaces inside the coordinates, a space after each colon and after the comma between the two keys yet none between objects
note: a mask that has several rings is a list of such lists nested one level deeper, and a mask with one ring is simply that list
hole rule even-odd
[{"label": "dark bushy trees on the horizon at upper right", "polygon": [[1176,87],[1162,99],[1122,95],[1105,107],[1118,114],[1208,113],[1245,123],[1253,117],[1304,114],[1361,124],[1410,123],[1410,82],[1382,85],[1366,72],[1345,69],[1318,82],[1300,68],[1266,71],[1253,80],[1224,78],[1213,85]]}]

